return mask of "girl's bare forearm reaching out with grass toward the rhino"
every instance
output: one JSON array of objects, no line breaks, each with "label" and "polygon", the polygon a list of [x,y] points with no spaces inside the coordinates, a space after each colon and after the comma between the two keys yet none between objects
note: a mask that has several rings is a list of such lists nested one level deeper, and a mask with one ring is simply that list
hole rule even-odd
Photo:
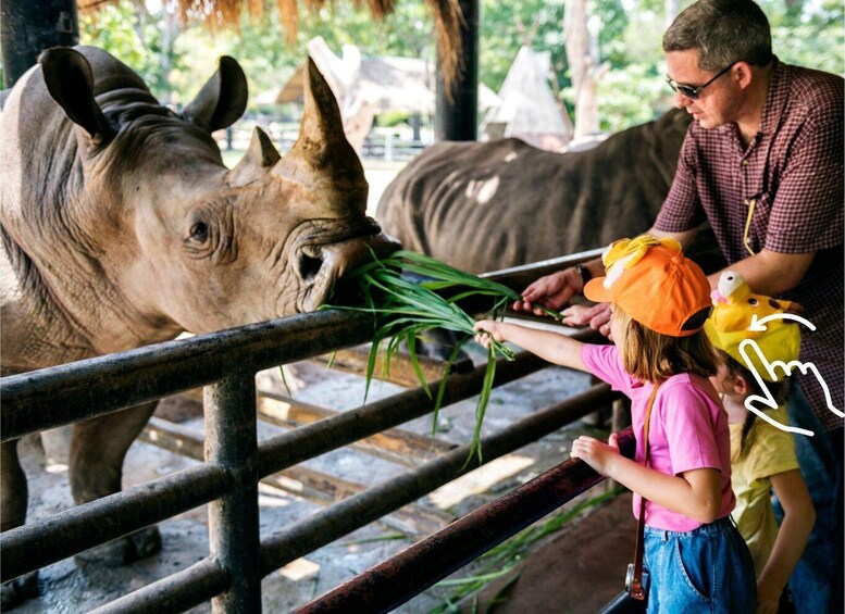
[{"label": "girl's bare forearm reaching out with grass toward the rhino", "polygon": [[475,340],[489,347],[489,337],[497,341],[510,341],[543,360],[561,366],[586,371],[581,361],[583,342],[549,330],[537,330],[509,322],[482,319],[475,323]]}]

